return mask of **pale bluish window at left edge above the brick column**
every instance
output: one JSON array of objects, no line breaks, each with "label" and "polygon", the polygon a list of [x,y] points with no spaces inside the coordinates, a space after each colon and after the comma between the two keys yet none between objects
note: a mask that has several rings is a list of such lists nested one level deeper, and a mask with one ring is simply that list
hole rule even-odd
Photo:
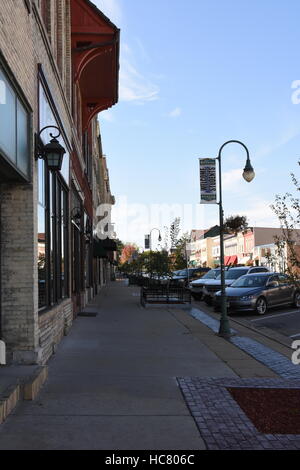
[{"label": "pale bluish window at left edge above the brick column", "polygon": [[0,64],[0,155],[29,179],[30,111]]}]

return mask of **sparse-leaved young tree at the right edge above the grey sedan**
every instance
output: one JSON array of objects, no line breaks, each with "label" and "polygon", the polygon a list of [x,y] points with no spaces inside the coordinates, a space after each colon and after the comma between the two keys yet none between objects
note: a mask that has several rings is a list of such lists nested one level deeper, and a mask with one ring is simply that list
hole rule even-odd
[{"label": "sparse-leaved young tree at the right edge above the grey sedan", "polygon": [[[300,191],[300,182],[294,173],[291,173],[291,178],[296,192]],[[281,228],[281,236],[274,237],[277,255],[287,257],[285,272],[291,280],[297,281],[300,272],[300,236],[295,230],[299,230],[300,226],[300,199],[289,192],[283,196],[277,194],[270,207],[278,217]],[[274,256],[270,261],[276,262]]]}]

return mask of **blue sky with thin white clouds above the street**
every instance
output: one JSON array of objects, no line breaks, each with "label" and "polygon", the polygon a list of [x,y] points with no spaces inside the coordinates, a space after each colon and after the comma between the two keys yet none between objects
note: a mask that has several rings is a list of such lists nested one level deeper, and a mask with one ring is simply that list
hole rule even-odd
[{"label": "blue sky with thin white clouds above the street", "polygon": [[[275,227],[276,194],[292,191],[300,160],[298,0],[94,0],[121,29],[119,102],[99,114],[118,238],[175,217],[181,233],[219,222],[200,202],[199,158],[222,151],[225,217]],[[152,232],[153,247],[158,231]]]}]

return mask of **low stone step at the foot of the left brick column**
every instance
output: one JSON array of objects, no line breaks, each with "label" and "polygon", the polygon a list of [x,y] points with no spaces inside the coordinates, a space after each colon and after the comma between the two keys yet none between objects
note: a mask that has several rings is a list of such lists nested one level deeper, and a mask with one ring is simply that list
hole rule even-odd
[{"label": "low stone step at the foot of the left brick column", "polygon": [[21,400],[35,400],[47,377],[48,366],[38,367],[26,379],[15,379],[17,383],[10,385],[1,393],[0,424],[6,420]]}]

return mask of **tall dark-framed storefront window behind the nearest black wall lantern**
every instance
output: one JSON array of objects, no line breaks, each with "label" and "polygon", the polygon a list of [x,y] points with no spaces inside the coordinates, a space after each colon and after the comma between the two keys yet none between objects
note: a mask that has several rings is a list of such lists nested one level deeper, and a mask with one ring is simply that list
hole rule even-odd
[{"label": "tall dark-framed storefront window behind the nearest black wall lantern", "polygon": [[[54,111],[40,83],[40,129],[57,126]],[[61,125],[59,126],[61,128]],[[48,129],[41,134],[44,142]],[[51,129],[50,129],[51,132]],[[60,139],[67,150],[67,146]],[[39,309],[56,304],[69,296],[69,154],[64,156],[61,172],[49,171],[38,160],[38,282]]]}]

